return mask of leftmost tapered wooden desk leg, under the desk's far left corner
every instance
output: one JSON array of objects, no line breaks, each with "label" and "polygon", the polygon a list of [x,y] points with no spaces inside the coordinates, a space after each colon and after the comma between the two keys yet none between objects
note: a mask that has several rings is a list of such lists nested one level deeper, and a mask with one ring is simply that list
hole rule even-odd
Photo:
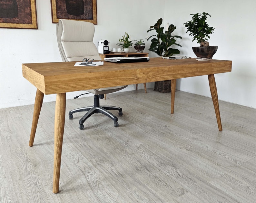
[{"label": "leftmost tapered wooden desk leg, under the desk's far left corner", "polygon": [[32,147],[34,144],[35,131],[36,131],[40,111],[42,108],[43,100],[44,100],[44,93],[37,89],[36,94],[35,94],[32,127],[31,127],[30,139],[29,139],[29,144],[28,144],[30,147]]}]

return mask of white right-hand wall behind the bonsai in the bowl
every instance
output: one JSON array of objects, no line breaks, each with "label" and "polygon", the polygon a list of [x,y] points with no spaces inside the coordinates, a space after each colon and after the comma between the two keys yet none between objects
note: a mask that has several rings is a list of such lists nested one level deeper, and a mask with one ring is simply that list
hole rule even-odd
[{"label": "white right-hand wall behind the bonsai in the bowl", "polygon": [[[186,6],[184,6],[186,5]],[[173,8],[175,6],[175,9]],[[215,32],[208,40],[210,45],[219,46],[213,59],[231,60],[232,72],[216,74],[220,100],[256,108],[256,1],[254,0],[180,0],[173,4],[165,1],[164,20],[177,26],[182,36],[182,55],[196,57],[192,46],[198,46],[183,23],[192,19],[190,14],[207,12],[211,14],[208,24]],[[180,79],[180,89],[204,96],[211,96],[208,77],[200,76]]]}]

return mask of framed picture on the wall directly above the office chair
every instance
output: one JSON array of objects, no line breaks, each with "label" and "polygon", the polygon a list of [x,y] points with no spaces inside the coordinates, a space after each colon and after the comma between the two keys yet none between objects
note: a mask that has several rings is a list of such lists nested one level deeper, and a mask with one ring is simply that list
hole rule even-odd
[{"label": "framed picture on the wall directly above the office chair", "polygon": [[51,7],[53,23],[70,19],[97,24],[96,0],[51,0]]}]

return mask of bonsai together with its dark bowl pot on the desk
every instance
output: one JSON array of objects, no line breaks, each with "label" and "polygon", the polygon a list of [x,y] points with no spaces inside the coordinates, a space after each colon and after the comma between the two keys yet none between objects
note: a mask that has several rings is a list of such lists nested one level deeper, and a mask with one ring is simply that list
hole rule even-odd
[{"label": "bonsai together with its dark bowl pot on the desk", "polygon": [[215,30],[215,28],[209,27],[206,22],[208,16],[211,17],[211,15],[205,12],[190,15],[193,15],[192,20],[184,23],[185,27],[187,32],[190,32],[189,35],[193,36],[192,42],[196,40],[200,44],[200,47],[192,47],[192,50],[198,61],[209,61],[218,49],[218,46],[209,46],[209,42],[206,42],[208,38],[210,39],[209,35]]}]

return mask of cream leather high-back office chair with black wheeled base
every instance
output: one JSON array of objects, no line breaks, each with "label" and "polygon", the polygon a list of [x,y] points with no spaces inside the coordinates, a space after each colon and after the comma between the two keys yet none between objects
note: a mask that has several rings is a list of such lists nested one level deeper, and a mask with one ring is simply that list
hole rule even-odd
[{"label": "cream leather high-back office chair with black wheeled base", "polygon": [[[98,50],[93,43],[94,24],[84,21],[60,19],[57,23],[57,41],[59,51],[64,62],[82,61],[84,58],[101,60]],[[86,82],[86,81],[84,81]],[[117,110],[118,115],[122,116],[122,108],[115,106],[100,106],[99,99],[104,98],[104,94],[122,90],[125,86],[99,88],[85,90],[94,94],[94,106],[83,107],[69,111],[69,119],[73,119],[73,113],[88,111],[79,120],[79,129],[84,129],[84,121],[94,113],[102,113],[114,121],[114,127],[118,127],[118,118],[107,110]]]}]

